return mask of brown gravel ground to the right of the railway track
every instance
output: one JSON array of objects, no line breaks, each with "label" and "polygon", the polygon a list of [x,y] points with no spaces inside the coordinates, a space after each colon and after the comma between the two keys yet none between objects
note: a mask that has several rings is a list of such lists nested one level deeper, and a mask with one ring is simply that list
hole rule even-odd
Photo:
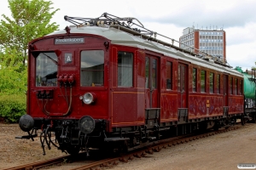
[{"label": "brown gravel ground to the right of the railway track", "polygon": [[247,124],[234,131],[154,152],[141,159],[121,163],[112,170],[155,169],[238,169],[239,163],[256,164],[256,124]]}]

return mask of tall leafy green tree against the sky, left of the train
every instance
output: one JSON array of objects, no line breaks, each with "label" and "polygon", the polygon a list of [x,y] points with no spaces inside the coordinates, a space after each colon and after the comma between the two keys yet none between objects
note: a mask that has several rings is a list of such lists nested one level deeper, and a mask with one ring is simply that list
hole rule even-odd
[{"label": "tall leafy green tree against the sky, left of the train", "polygon": [[28,42],[58,29],[59,26],[55,22],[50,23],[50,20],[59,8],[51,8],[53,3],[45,0],[8,2],[13,19],[2,14],[4,20],[0,22],[0,51],[4,52],[6,48],[16,50],[21,55],[13,58],[12,64],[21,62],[26,65]]}]

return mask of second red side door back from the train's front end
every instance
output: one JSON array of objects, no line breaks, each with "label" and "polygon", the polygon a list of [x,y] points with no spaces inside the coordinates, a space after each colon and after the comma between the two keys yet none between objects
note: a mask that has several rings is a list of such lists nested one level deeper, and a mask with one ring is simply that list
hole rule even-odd
[{"label": "second red side door back from the train's front end", "polygon": [[177,67],[177,106],[188,108],[188,65],[178,64]]}]

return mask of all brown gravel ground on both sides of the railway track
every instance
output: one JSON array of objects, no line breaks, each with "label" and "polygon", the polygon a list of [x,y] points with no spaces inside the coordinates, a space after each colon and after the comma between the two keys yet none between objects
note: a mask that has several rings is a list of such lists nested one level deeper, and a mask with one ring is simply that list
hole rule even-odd
[{"label": "all brown gravel ground on both sides of the railway track", "polygon": [[[17,124],[0,124],[0,169],[14,167],[31,161],[42,161],[66,155],[61,150],[46,150],[46,156],[38,139],[15,139],[24,135]],[[256,124],[247,124],[235,131],[219,133],[205,139],[178,144],[154,152],[143,158],[121,163],[112,170],[155,170],[155,169],[238,169],[239,163],[256,163]],[[49,169],[69,169],[51,167]],[[79,163],[80,164],[80,163]]]}]

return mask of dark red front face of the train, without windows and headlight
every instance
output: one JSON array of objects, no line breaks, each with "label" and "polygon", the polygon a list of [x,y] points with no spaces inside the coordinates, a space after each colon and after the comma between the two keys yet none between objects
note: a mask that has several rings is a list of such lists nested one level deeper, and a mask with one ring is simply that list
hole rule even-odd
[{"label": "dark red front face of the train, without windows and headlight", "polygon": [[[75,36],[73,36],[75,37]],[[65,113],[67,111],[68,105],[66,100],[63,97],[65,94],[64,88],[60,88],[59,84],[57,87],[36,87],[35,86],[35,58],[32,54],[29,56],[29,77],[28,77],[28,109],[27,113],[33,117],[50,117],[44,115],[43,111],[40,109],[44,103],[41,103],[42,100],[37,99],[37,91],[38,90],[53,90],[53,99],[49,99],[46,110],[52,113],[52,117],[55,119],[79,119],[81,116],[88,115],[94,118],[104,118],[109,119],[109,111],[108,111],[108,72],[109,72],[109,53],[106,51],[103,43],[108,41],[105,38],[98,36],[90,36],[90,35],[79,35],[79,37],[84,37],[84,44],[68,44],[68,45],[56,45],[54,44],[54,38],[48,37],[42,40],[35,41],[33,44],[36,48],[40,49],[40,51],[55,51],[59,50],[61,53],[58,56],[58,75],[61,74],[74,74],[75,82],[73,84],[72,89],[72,110],[71,113],[67,116],[55,116],[59,113]],[[80,86],[80,51],[87,49],[102,49],[105,51],[104,53],[104,86],[103,87],[81,87]],[[71,53],[73,54],[73,62],[71,64],[65,65],[64,63],[64,54]],[[33,64],[33,65],[32,65]],[[80,95],[90,91],[90,93],[94,93],[97,96],[96,105],[84,105],[83,102],[79,99]],[[70,88],[67,88],[67,94],[70,94]],[[69,96],[69,95],[68,95]]]}]

